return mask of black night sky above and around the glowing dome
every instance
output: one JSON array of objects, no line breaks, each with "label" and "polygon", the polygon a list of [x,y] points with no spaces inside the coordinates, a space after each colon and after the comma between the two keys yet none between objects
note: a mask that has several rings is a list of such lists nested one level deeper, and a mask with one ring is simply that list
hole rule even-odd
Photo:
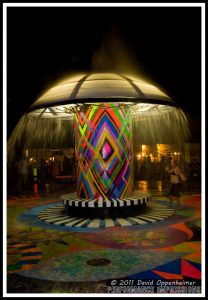
[{"label": "black night sky above and around the glowing dome", "polygon": [[201,135],[201,8],[7,8],[8,136],[30,105],[74,72],[142,74]]}]

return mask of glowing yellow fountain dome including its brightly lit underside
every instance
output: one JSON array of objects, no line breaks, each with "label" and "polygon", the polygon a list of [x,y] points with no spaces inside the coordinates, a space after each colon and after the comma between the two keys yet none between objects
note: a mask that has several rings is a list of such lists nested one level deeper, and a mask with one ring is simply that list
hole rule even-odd
[{"label": "glowing yellow fountain dome including its brightly lit underside", "polygon": [[33,103],[29,115],[68,118],[79,104],[103,103],[106,100],[134,105],[135,113],[177,106],[163,91],[140,78],[95,73],[62,80]]}]

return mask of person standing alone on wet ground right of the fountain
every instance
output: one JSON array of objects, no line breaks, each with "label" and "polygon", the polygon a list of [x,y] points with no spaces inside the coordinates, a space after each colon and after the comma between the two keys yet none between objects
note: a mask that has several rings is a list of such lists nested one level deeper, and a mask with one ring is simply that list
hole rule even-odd
[{"label": "person standing alone on wet ground right of the fountain", "polygon": [[171,160],[170,167],[167,168],[168,173],[170,174],[170,204],[169,207],[172,207],[173,201],[176,200],[177,208],[180,208],[180,192],[181,192],[181,179],[185,180],[184,175],[182,174],[178,162],[175,158]]}]

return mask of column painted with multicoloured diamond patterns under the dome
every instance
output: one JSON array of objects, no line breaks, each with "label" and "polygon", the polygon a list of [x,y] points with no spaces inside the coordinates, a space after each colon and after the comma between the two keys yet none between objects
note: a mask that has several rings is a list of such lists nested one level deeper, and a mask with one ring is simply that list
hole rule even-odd
[{"label": "column painted with multicoloured diamond patterns under the dome", "polygon": [[126,108],[118,103],[84,105],[75,115],[75,151],[79,198],[133,193],[131,117]]}]

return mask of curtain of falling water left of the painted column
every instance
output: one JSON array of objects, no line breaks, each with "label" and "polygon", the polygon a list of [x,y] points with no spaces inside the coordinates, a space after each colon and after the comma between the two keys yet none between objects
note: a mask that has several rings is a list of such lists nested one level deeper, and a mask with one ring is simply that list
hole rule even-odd
[{"label": "curtain of falling water left of the painted column", "polygon": [[24,114],[8,140],[8,164],[12,164],[23,149],[60,149],[73,146],[74,126],[70,118],[35,118]]}]

